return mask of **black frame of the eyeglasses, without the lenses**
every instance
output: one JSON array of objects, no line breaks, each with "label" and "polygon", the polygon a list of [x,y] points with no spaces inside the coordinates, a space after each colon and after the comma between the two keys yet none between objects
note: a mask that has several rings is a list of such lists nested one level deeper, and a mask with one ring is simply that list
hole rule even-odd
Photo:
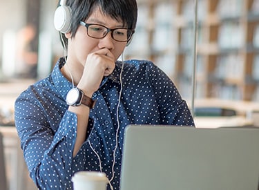
[{"label": "black frame of the eyeglasses, without the lenses", "polygon": [[113,29],[111,29],[111,28],[107,28],[106,26],[103,26],[102,24],[98,24],[98,23],[85,23],[84,21],[80,21],[80,25],[86,27],[86,33],[87,33],[88,37],[92,37],[92,36],[90,36],[88,34],[88,27],[89,26],[96,25],[96,26],[102,26],[102,27],[106,28],[106,34],[103,37],[93,37],[95,39],[103,39],[104,37],[106,37],[106,35],[108,35],[108,32],[111,32],[111,37],[114,39],[113,31],[115,31],[117,29],[126,29],[128,31],[131,31],[131,34],[129,35],[129,37],[128,37],[128,31],[127,31],[127,39],[126,40],[117,40],[117,39],[114,39],[114,40],[115,41],[119,41],[119,42],[127,42],[127,41],[131,40],[131,37],[133,36],[133,34],[135,32],[135,30],[130,29],[130,28],[123,28],[123,27],[121,27],[121,28],[113,28]]}]

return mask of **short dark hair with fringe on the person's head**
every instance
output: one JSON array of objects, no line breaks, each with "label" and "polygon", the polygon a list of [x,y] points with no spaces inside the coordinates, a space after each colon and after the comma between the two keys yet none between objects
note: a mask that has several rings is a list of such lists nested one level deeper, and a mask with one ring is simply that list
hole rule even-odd
[{"label": "short dark hair with fringe on the person's head", "polygon": [[[60,1],[59,1],[60,4]],[[104,15],[108,15],[117,21],[122,21],[125,27],[135,29],[137,23],[136,0],[67,0],[66,6],[71,8],[72,37],[75,37],[80,21],[85,21],[95,8],[100,8]],[[64,37],[64,46],[68,46],[68,40]]]}]

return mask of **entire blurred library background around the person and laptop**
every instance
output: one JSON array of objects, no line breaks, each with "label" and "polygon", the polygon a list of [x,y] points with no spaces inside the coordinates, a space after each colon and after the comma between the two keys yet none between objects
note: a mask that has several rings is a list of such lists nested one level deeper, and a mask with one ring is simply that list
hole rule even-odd
[{"label": "entire blurred library background around the person and laptop", "polygon": [[[191,102],[197,127],[259,126],[259,0],[137,0],[124,59],[150,59]],[[14,102],[64,55],[53,26],[57,0],[0,0],[0,178],[4,189],[35,189],[14,126]],[[197,60],[196,67],[193,67]],[[0,176],[1,177],[1,176]]]}]

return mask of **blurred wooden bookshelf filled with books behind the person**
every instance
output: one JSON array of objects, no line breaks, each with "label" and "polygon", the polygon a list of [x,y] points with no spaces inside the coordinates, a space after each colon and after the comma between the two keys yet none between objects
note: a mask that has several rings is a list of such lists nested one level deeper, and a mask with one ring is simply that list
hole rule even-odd
[{"label": "blurred wooden bookshelf filled with books behind the person", "polygon": [[[191,98],[193,0],[138,0],[127,59],[151,59]],[[259,100],[259,0],[199,0],[196,98]]]}]

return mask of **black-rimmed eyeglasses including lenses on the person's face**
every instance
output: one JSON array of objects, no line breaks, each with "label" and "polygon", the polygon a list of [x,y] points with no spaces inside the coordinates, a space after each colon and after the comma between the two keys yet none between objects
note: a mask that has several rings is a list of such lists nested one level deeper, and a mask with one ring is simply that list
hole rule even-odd
[{"label": "black-rimmed eyeglasses including lenses on the person's face", "polygon": [[115,41],[129,41],[134,34],[134,30],[128,29],[128,28],[107,28],[106,26],[102,26],[100,24],[96,23],[85,23],[83,21],[80,21],[81,26],[86,27],[87,35],[89,37],[93,37],[96,39],[102,39],[106,37],[108,32],[111,32],[111,37]]}]

